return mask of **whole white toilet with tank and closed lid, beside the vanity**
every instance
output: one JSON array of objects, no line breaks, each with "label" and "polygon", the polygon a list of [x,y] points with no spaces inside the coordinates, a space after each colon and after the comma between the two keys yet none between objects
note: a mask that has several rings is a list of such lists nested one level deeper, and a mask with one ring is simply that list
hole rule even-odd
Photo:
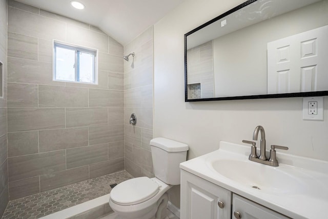
[{"label": "whole white toilet with tank and closed lid, beside the vanity", "polygon": [[150,141],[154,178],[136,177],[115,186],[109,205],[119,219],[165,219],[167,191],[180,184],[179,164],[187,160],[188,145],[157,137]]}]

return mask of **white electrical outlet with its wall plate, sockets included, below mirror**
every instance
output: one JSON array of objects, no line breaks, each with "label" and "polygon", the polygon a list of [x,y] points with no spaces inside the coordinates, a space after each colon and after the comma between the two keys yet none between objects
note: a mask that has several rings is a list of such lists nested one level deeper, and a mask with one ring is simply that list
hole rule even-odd
[{"label": "white electrical outlet with its wall plate, sockets included, below mirror", "polygon": [[303,97],[303,120],[323,121],[323,96]]}]

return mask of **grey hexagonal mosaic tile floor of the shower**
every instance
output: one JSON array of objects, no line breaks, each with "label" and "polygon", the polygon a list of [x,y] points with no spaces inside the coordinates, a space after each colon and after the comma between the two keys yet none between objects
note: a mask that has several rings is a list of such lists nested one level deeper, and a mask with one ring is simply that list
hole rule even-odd
[{"label": "grey hexagonal mosaic tile floor of the shower", "polygon": [[112,184],[133,178],[127,171],[99,176],[91,180],[10,201],[2,219],[39,218],[110,193]]}]

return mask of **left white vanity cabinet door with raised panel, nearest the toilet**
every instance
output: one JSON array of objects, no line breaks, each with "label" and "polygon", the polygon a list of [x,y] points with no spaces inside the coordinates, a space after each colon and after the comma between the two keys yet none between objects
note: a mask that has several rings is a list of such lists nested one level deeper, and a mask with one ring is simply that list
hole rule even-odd
[{"label": "left white vanity cabinet door with raised panel, nearest the toilet", "polygon": [[231,197],[229,190],[181,170],[181,219],[231,218]]}]

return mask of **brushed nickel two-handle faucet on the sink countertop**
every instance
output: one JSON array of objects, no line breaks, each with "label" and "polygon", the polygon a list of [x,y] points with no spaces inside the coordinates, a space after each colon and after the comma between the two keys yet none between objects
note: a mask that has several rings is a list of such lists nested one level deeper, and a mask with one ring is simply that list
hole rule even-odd
[{"label": "brushed nickel two-handle faucet on the sink countertop", "polygon": [[265,132],[264,132],[264,128],[262,126],[256,126],[254,133],[253,133],[253,141],[257,141],[258,132],[261,132],[260,155],[259,156],[257,156],[255,142],[242,140],[243,143],[252,145],[249,160],[257,162],[257,163],[273,166],[273,167],[279,166],[275,149],[288,150],[288,147],[271,145],[270,158],[268,159],[267,156],[265,156]]}]

